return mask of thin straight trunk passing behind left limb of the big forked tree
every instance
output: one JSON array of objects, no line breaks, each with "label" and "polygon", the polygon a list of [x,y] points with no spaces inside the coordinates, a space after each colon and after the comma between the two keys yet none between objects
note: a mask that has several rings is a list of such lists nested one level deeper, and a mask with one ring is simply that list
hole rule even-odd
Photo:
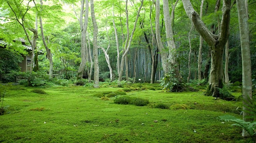
[{"label": "thin straight trunk passing behind left limb of the big forked tree", "polygon": [[[200,19],[202,19],[203,16],[203,1],[201,1],[200,5]],[[199,50],[198,50],[198,80],[202,80],[201,77],[201,68],[202,68],[202,48],[203,48],[203,37],[200,36],[200,44],[199,44]]]}]

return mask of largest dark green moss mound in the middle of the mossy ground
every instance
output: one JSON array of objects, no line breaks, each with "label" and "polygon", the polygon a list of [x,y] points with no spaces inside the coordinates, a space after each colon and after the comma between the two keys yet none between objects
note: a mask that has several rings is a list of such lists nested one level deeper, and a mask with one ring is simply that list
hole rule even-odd
[{"label": "largest dark green moss mound in the middle of the mossy ground", "polygon": [[149,104],[149,100],[138,97],[121,96],[114,100],[115,104],[132,104],[136,106],[146,106]]}]

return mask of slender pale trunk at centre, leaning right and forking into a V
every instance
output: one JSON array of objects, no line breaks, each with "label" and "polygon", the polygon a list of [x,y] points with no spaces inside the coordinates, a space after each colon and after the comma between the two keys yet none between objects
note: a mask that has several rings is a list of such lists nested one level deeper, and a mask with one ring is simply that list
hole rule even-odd
[{"label": "slender pale trunk at centre, leaning right and forking into a V", "polygon": [[[137,21],[138,21],[138,18],[139,18],[139,14],[140,14],[140,10],[142,8],[142,5],[143,5],[143,1],[144,0],[141,0],[141,5],[140,5],[140,8],[138,10],[138,13],[137,13],[137,17],[136,17],[136,20],[135,20],[135,23],[134,23],[134,26],[133,26],[133,31],[132,31],[132,34],[130,36],[130,39],[129,39],[129,35],[126,39],[126,41],[129,41],[128,45],[127,45],[127,42],[126,42],[126,46],[124,49],[126,49],[126,51],[123,53],[123,56],[121,58],[121,65],[120,65],[120,73],[118,75],[118,85],[120,86],[120,83],[122,81],[122,77],[123,77],[123,70],[124,70],[124,63],[125,63],[125,56],[126,54],[128,54],[128,51],[130,49],[130,46],[131,46],[131,43],[132,43],[132,37],[133,37],[133,34],[134,34],[134,31],[136,29],[136,24],[137,24]],[[128,3],[128,0],[126,0],[126,6],[125,6],[125,11],[126,11],[126,26],[127,26],[127,33],[129,33],[129,23],[128,23],[128,9],[127,9],[127,3]]]}]

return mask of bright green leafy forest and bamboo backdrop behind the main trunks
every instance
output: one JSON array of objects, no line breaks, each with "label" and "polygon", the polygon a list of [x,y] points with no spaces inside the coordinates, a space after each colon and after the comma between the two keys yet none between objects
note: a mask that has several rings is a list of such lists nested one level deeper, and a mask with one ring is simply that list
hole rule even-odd
[{"label": "bright green leafy forest and bamboo backdrop behind the main trunks", "polygon": [[[20,39],[24,39],[27,45],[31,45],[34,53],[39,50],[44,51],[44,55],[37,57],[35,54],[33,58],[34,66],[38,64],[39,68],[31,69],[49,73],[51,70],[49,59],[52,58],[53,73],[50,74],[59,75],[58,78],[76,78],[84,58],[83,78],[94,79],[95,69],[91,67],[95,66],[93,61],[96,54],[93,54],[93,48],[96,48],[98,55],[100,80],[117,79],[120,65],[124,60],[123,70],[121,70],[122,80],[139,82],[141,79],[142,82],[156,82],[161,80],[165,73],[162,63],[167,65],[171,63],[172,56],[175,57],[176,66],[183,81],[195,82],[198,79],[207,80],[209,77],[209,46],[203,41],[202,51],[200,51],[200,34],[191,24],[181,0],[168,1],[171,37],[168,36],[161,0],[157,0],[160,4],[159,12],[156,10],[154,0],[129,0],[127,3],[123,0],[95,0],[88,5],[86,2],[84,0],[81,2],[78,0],[0,0],[0,39],[9,43],[5,51],[1,49],[2,77],[13,74],[12,71],[18,71],[19,67],[15,65],[20,61],[20,54],[27,54],[20,46]],[[191,0],[191,3],[198,13],[202,3],[202,20],[217,35],[222,18],[222,1]],[[97,31],[92,18],[92,4],[94,4]],[[256,2],[251,0],[248,5],[252,75],[256,75],[255,4]],[[216,6],[219,7],[218,10]],[[160,14],[159,26],[156,26],[157,13]],[[223,49],[223,81],[228,74],[228,81],[234,83],[242,82],[242,59],[237,6],[233,1],[230,15],[230,33],[226,53]],[[86,22],[87,19],[88,22]],[[163,44],[161,50],[158,47],[159,41],[156,39],[158,30]],[[96,44],[94,32],[97,36]],[[36,34],[38,37],[35,36]],[[175,48],[168,47],[170,40],[174,41]],[[81,54],[82,46],[85,47],[84,54],[83,52]],[[163,60],[164,54],[168,56],[167,61]],[[124,58],[122,58],[123,55]],[[9,60],[5,61],[4,57],[8,57]],[[228,69],[227,73],[224,72],[225,66]],[[113,71],[113,79],[111,79],[110,68]],[[155,74],[151,78],[153,72]],[[6,78],[5,81],[11,82],[8,79]]]}]

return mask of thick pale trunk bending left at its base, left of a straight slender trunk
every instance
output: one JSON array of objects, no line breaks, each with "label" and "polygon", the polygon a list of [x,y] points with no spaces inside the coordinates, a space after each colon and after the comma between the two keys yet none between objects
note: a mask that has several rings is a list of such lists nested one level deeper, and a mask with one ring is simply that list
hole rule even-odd
[{"label": "thick pale trunk bending left at its base, left of a straight slender trunk", "polygon": [[[85,14],[84,14],[85,12]],[[84,14],[84,24],[83,24],[83,14]],[[88,15],[89,15],[89,2],[85,1],[85,10],[84,10],[84,0],[81,0],[81,12],[80,12],[80,30],[81,30],[81,63],[77,71],[77,80],[82,79],[84,73],[84,68],[86,66],[86,31],[88,26]]]}]

